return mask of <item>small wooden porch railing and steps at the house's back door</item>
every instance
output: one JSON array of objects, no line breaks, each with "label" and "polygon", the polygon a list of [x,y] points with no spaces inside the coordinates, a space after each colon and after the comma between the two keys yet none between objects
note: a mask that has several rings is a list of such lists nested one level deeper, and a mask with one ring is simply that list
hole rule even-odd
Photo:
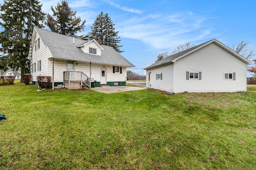
[{"label": "small wooden porch railing and steps at the house's back door", "polygon": [[64,71],[63,72],[63,83],[68,83],[68,89],[70,89],[70,83],[79,82],[82,86],[90,88],[90,77],[86,76],[84,72],[81,71]]}]

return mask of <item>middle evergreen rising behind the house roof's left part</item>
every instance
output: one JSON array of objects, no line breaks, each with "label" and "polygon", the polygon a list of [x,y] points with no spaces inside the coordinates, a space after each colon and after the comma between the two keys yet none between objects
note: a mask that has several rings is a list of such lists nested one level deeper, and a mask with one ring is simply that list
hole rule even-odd
[{"label": "middle evergreen rising behind the house roof's left part", "polygon": [[58,2],[55,10],[51,6],[53,16],[47,14],[46,25],[50,27],[51,31],[61,33],[64,35],[75,35],[78,31],[84,31],[85,20],[81,25],[81,18],[76,17],[74,12],[69,6],[68,2],[62,0],[61,4]]}]

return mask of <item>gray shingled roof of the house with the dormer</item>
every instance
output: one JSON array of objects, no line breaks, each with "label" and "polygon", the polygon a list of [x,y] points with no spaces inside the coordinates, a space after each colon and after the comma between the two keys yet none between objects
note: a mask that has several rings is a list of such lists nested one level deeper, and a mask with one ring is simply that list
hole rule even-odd
[{"label": "gray shingled roof of the house with the dormer", "polygon": [[91,55],[84,53],[78,45],[88,41],[47,31],[38,27],[34,27],[44,45],[47,45],[54,58],[85,61],[101,64],[112,64],[117,66],[134,67],[132,63],[126,60],[122,55],[116,52],[112,47],[101,45],[104,49],[100,55]]}]

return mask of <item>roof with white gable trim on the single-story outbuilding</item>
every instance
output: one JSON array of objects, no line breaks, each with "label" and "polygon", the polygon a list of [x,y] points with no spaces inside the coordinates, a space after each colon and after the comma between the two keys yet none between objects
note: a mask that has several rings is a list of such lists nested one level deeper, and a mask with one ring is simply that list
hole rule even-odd
[{"label": "roof with white gable trim on the single-story outbuilding", "polygon": [[187,55],[193,53],[194,51],[197,51],[203,47],[205,47],[206,45],[209,45],[210,43],[215,43],[216,45],[218,45],[220,48],[228,51],[229,53],[231,53],[232,55],[234,55],[234,57],[237,57],[238,59],[240,59],[241,61],[243,61],[246,64],[252,64],[250,61],[248,61],[247,59],[245,59],[244,57],[242,57],[241,55],[239,55],[238,53],[236,53],[235,51],[233,51],[232,49],[228,48],[226,45],[222,44],[220,41],[216,40],[216,39],[212,39],[210,41],[207,41],[205,43],[202,43],[200,45],[197,45],[195,47],[192,47],[190,49],[181,51],[180,53],[176,53],[174,55],[171,55],[169,57],[166,57],[165,59],[162,59],[146,68],[144,68],[144,70],[148,69],[148,68],[154,68],[157,66],[161,66],[164,64],[168,64],[168,63],[174,63],[177,60],[181,59],[182,57],[186,57]]}]

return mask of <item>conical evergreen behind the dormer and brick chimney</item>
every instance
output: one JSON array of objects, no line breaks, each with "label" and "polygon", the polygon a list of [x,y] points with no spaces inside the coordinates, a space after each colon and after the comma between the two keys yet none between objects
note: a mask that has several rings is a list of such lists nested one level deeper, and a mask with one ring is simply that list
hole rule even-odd
[{"label": "conical evergreen behind the dormer and brick chimney", "polygon": [[118,36],[119,31],[115,31],[115,24],[113,24],[108,14],[104,15],[103,12],[101,12],[92,25],[92,31],[88,35],[91,40],[100,39],[103,45],[112,47],[118,53],[124,52],[119,49],[122,45],[118,45],[121,41],[120,36]]}]

